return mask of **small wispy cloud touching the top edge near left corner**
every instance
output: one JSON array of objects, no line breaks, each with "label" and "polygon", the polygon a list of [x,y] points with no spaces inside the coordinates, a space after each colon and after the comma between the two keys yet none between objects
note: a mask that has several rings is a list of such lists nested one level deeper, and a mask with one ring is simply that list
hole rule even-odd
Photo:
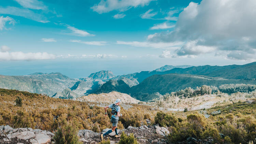
[{"label": "small wispy cloud touching the top edge near left corner", "polygon": [[38,0],[15,0],[24,8],[34,9],[34,10],[46,10],[47,6],[43,2]]}]

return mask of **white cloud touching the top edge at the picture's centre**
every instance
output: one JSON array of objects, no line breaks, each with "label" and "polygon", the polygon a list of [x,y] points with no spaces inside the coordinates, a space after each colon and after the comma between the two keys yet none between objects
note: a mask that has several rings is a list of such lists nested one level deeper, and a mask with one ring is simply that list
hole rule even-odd
[{"label": "white cloud touching the top edge at the picture's centre", "polygon": [[148,5],[154,0],[101,0],[91,7],[93,11],[102,14],[113,10],[124,12],[132,7]]}]

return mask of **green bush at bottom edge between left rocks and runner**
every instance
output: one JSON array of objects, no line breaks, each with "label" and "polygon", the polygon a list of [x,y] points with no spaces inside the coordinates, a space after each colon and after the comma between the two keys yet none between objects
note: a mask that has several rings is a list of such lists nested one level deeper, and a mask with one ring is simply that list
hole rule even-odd
[{"label": "green bush at bottom edge between left rocks and runner", "polygon": [[71,124],[65,124],[57,130],[53,140],[56,144],[82,144],[77,136],[77,128]]}]

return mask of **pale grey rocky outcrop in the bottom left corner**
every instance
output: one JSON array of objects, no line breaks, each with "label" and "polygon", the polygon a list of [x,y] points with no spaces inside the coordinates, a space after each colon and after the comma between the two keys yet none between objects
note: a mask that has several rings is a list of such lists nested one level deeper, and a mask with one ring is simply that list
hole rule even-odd
[{"label": "pale grey rocky outcrop in the bottom left corner", "polygon": [[0,143],[20,144],[50,144],[54,134],[49,131],[31,128],[13,129],[10,126],[0,126]]}]

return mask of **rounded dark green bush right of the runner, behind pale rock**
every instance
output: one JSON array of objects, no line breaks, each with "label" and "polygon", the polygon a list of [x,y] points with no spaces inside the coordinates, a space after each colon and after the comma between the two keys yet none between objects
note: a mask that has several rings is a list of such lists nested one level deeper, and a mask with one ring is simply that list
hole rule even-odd
[{"label": "rounded dark green bush right of the runner, behind pale rock", "polygon": [[155,116],[155,123],[160,126],[176,126],[178,119],[172,114],[166,114],[163,112],[157,112]]}]

